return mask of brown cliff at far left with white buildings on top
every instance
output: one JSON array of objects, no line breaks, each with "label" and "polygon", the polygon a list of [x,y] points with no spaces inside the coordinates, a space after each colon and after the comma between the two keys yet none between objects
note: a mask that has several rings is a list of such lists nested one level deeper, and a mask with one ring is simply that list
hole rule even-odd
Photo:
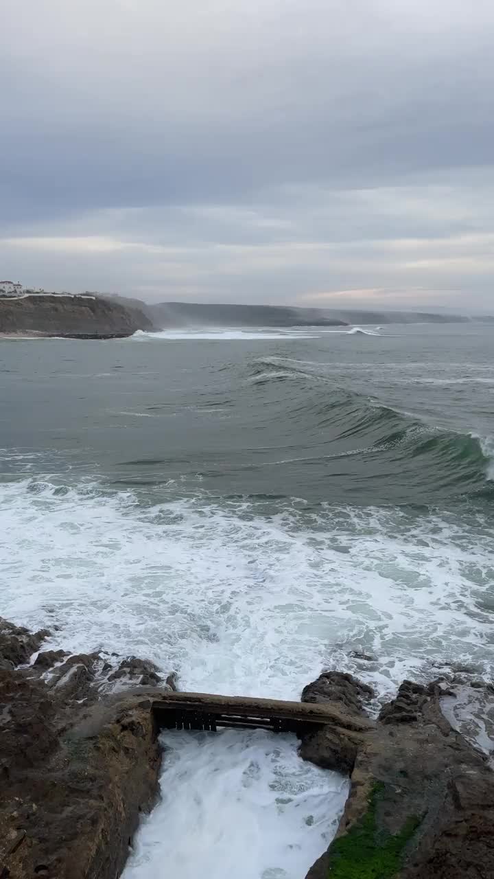
[{"label": "brown cliff at far left with white buildings on top", "polygon": [[0,335],[119,338],[152,329],[151,320],[140,309],[100,296],[0,297]]}]

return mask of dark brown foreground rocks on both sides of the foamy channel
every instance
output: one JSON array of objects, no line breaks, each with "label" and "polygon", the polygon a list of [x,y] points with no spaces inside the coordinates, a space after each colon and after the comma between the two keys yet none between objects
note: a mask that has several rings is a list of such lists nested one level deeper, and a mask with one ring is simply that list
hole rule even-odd
[{"label": "dark brown foreground rocks on both sides of the foamy channel", "polygon": [[[175,679],[137,657],[41,650],[48,634],[0,618],[0,877],[116,879],[156,803],[150,705]],[[301,757],[352,782],[308,879],[494,875],[489,759],[441,710],[460,686],[404,681],[377,720],[364,708],[371,688],[350,674],[305,687],[302,701],[331,706],[335,723],[303,737]],[[491,702],[494,688],[481,686]]]}]

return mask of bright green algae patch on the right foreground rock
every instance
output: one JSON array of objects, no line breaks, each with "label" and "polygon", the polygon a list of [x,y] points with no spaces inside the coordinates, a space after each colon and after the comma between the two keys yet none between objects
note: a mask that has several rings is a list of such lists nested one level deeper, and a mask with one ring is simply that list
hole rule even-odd
[{"label": "bright green algae patch on the right foreground rock", "polygon": [[365,815],[350,832],[333,842],[328,879],[391,879],[402,867],[403,848],[422,819],[411,816],[394,836],[379,830],[376,811],[383,788],[381,783],[374,785]]}]

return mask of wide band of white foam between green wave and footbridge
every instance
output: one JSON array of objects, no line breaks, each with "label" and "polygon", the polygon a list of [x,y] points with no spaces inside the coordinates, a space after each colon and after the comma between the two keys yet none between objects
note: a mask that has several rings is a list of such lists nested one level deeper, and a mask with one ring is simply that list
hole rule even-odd
[{"label": "wide band of white foam between green wave and footbridge", "polygon": [[150,657],[180,686],[297,698],[323,665],[381,694],[432,663],[492,672],[493,530],[478,515],[0,487],[3,613],[57,643]]}]

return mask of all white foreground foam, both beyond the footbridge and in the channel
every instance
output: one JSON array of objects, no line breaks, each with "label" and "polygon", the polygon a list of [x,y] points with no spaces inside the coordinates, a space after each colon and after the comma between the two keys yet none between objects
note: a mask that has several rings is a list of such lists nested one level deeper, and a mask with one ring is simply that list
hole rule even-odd
[{"label": "all white foreground foam, both beyond the footbridge and in the channel", "polygon": [[[2,613],[52,627],[53,646],[149,657],[206,692],[297,698],[323,666],[356,672],[381,696],[448,660],[492,674],[487,523],[299,506],[274,516],[207,498],[145,507],[95,484],[4,483]],[[349,657],[355,649],[375,661]],[[126,879],[205,868],[227,879],[234,857],[240,879],[304,875],[331,839],[344,782],[302,764],[285,737],[172,739],[164,799]]]}]

